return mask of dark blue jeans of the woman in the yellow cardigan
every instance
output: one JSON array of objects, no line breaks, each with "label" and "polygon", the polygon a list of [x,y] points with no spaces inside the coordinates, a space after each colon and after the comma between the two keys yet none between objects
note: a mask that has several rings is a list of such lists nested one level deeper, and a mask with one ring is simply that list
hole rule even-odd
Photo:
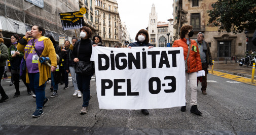
[{"label": "dark blue jeans of the woman in the yellow cardigan", "polygon": [[36,96],[36,109],[42,109],[44,100],[45,100],[45,84],[39,86],[39,72],[38,73],[28,73],[29,77],[29,87],[30,89],[35,92]]}]

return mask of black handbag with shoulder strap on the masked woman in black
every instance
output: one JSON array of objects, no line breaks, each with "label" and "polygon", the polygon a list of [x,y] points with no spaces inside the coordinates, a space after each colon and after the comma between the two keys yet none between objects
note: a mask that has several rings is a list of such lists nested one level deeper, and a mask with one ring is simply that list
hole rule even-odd
[{"label": "black handbag with shoulder strap on the masked woman in black", "polygon": [[[78,51],[77,51],[77,58],[79,57],[79,47],[80,47],[80,42],[78,44]],[[75,72],[77,74],[83,74],[83,75],[92,75],[93,71],[93,62],[84,62],[84,61],[79,61],[76,63],[75,66]]]}]

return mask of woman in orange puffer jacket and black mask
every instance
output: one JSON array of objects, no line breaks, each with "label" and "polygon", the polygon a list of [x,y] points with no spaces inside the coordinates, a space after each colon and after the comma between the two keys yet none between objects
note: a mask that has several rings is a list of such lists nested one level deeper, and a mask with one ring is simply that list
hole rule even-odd
[{"label": "woman in orange puffer jacket and black mask", "polygon": [[[182,47],[184,50],[184,60],[186,60],[191,43],[191,49],[188,58],[188,71],[186,72],[186,91],[188,90],[188,80],[191,89],[191,113],[201,115],[202,113],[197,109],[197,72],[202,70],[202,63],[200,53],[198,51],[197,43],[195,40],[190,39],[194,34],[191,25],[184,25],[180,29],[180,39],[175,40],[172,47]],[[187,101],[186,101],[187,105]],[[185,112],[186,106],[182,106],[180,111]]]}]

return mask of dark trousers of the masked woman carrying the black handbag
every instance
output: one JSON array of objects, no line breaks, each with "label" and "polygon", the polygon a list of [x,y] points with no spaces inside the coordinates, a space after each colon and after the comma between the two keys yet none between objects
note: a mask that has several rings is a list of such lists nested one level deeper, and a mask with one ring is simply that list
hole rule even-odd
[{"label": "dark trousers of the masked woman carrying the black handbag", "polygon": [[86,76],[82,74],[77,74],[78,89],[83,94],[83,107],[87,107],[89,105],[91,77],[91,75]]}]

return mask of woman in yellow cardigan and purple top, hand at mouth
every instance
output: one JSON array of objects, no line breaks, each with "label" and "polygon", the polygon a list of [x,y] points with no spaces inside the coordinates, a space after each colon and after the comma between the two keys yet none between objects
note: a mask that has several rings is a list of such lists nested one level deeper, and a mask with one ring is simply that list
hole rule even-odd
[{"label": "woman in yellow cardigan and purple top, hand at mouth", "polygon": [[[41,26],[33,26],[20,40],[17,49],[24,52],[26,60],[26,82],[35,91],[36,110],[32,117],[40,117],[44,104],[49,100],[45,97],[45,86],[51,72],[56,71],[57,59],[52,41],[44,36],[45,30]],[[29,38],[32,37],[32,38]],[[39,62],[40,57],[49,57],[51,67]]]}]

